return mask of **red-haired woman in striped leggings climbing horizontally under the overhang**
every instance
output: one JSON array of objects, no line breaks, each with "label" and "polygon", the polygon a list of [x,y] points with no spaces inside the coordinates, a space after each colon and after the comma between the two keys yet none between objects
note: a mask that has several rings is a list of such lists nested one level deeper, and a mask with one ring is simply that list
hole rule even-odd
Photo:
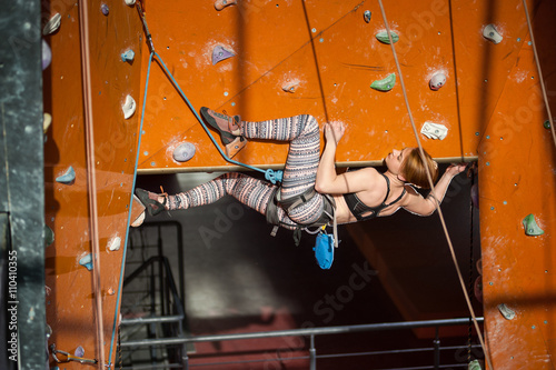
[{"label": "red-haired woman in striped leggings climbing horizontally under the overhang", "polygon": [[465,164],[449,167],[435,191],[423,198],[410,184],[429,188],[426,168],[436,181],[438,166],[425,152],[423,162],[416,148],[393,150],[386,158],[386,172],[364,168],[341,174],[336,172],[335,154],[345,132],[341,123],[325,124],[325,150],[320,154],[317,120],[307,114],[249,122],[239,116],[228,117],[201,108],[203,119],[220,132],[228,156],[240,150],[246,139],[289,141],[289,152],[280,187],[239,172],[225,173],[189,191],[173,196],[137,189],[137,196],[155,216],[162,210],[188,209],[232,196],[241,203],[266,214],[267,221],[287,229],[324,226],[336,213],[338,223],[390,216],[399,208],[419,216],[431,214],[435,198],[441,202],[454,178]]}]

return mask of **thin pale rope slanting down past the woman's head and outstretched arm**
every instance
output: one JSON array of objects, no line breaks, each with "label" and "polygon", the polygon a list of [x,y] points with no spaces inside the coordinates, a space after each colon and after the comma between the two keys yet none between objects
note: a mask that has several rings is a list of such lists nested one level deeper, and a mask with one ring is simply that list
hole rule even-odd
[{"label": "thin pale rope slanting down past the woman's head and outstretched arm", "polygon": [[[411,114],[411,109],[409,107],[409,100],[407,98],[407,91],[406,91],[406,86],[404,83],[404,77],[401,74],[401,68],[399,66],[398,57],[397,57],[397,53],[396,53],[396,48],[394,47],[394,41],[391,39],[390,27],[388,26],[388,20],[386,19],[386,12],[384,10],[383,0],[378,0],[378,3],[380,6],[380,11],[383,13],[383,20],[384,20],[384,23],[386,26],[386,33],[388,34],[388,39],[390,41],[390,47],[391,47],[391,51],[393,51],[393,54],[394,54],[394,61],[396,62],[396,68],[398,70],[399,82],[401,84],[401,91],[404,93],[404,100],[405,100],[405,103],[406,103],[407,112],[409,114],[409,120],[411,121],[411,127],[413,127],[413,130],[414,130],[414,136],[415,136],[417,144],[419,147],[420,158],[421,158],[423,162],[425,163],[426,162],[425,151],[423,150],[423,146],[420,143],[419,134],[417,133],[417,127],[415,124],[415,120],[414,120],[414,117]],[[429,171],[428,167],[425,167],[425,169],[426,169],[426,172],[427,172],[428,183],[430,186],[431,191],[434,192],[435,191],[435,184],[433,183],[433,177],[430,176],[430,171]],[[478,322],[477,322],[477,317],[475,316],[475,310],[473,309],[471,302],[469,300],[469,294],[467,294],[467,287],[465,286],[464,278],[461,276],[461,271],[460,271],[459,264],[457,262],[456,252],[454,251],[454,246],[451,243],[451,239],[449,237],[448,229],[447,229],[446,222],[444,220],[444,214],[443,214],[443,212],[440,210],[440,204],[438,203],[438,200],[436,198],[434,198],[434,199],[435,199],[435,207],[436,207],[436,210],[438,211],[438,217],[440,218],[440,223],[443,226],[444,233],[446,236],[446,241],[448,242],[448,247],[449,247],[449,251],[450,251],[450,254],[451,254],[451,259],[453,259],[454,266],[456,268],[456,272],[457,272],[457,276],[458,276],[458,279],[459,279],[459,283],[461,284],[461,289],[463,289],[463,292],[464,292],[464,296],[465,296],[465,300],[467,302],[467,307],[468,307],[469,312],[471,314],[473,322],[475,324],[475,329],[477,330],[477,336],[478,336],[480,346],[483,347],[483,351],[485,352],[485,359],[486,359],[486,361],[488,363],[488,367],[490,369],[494,369],[493,364],[490,363],[490,358],[489,358],[489,356],[488,356],[488,353],[486,351],[485,342],[483,341],[483,336],[481,336],[480,330],[479,330],[479,326],[478,326]]]}]

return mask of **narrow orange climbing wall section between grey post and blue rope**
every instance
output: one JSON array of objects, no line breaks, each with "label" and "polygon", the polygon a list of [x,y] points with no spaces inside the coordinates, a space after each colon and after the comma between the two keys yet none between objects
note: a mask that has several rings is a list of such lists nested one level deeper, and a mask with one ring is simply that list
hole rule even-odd
[{"label": "narrow orange climbing wall section between grey post and blue rope", "polygon": [[[92,271],[79,264],[92,251],[79,8],[77,2],[51,1],[42,9],[44,19],[61,14],[58,31],[44,37],[52,49],[52,63],[43,72],[44,111],[52,116],[44,142],[46,223],[54,232],[54,242],[46,249],[47,323],[52,329],[49,344],[71,354],[81,346],[85,358],[97,359],[98,346],[103,343],[105,361],[122,259],[122,248],[109,251],[107,246],[117,237],[123,246],[138,131],[138,114],[125,120],[121,103],[127,94],[140,103],[142,37],[133,8],[123,1],[109,6],[108,17],[100,12],[100,1],[89,1],[88,8],[103,338],[97,331]],[[127,49],[136,51],[132,63],[120,58]],[[76,171],[75,182],[56,182],[69,166]],[[82,367],[78,362],[60,366],[68,370]]]}]

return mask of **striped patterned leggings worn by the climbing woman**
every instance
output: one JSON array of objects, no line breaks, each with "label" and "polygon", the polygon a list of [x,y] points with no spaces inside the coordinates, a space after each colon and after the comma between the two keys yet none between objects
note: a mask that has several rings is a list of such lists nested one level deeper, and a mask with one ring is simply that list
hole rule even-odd
[{"label": "striped patterned leggings worn by the climbing woman", "polygon": [[[289,141],[289,152],[284,170],[280,198],[287,200],[315,186],[320,156],[320,130],[317,120],[307,114],[277,120],[240,123],[241,136],[248,139]],[[210,204],[224,196],[232,196],[241,203],[265,214],[276,186],[244,173],[229,172],[189,191],[168,197],[168,209],[188,209]],[[317,193],[288,213],[278,208],[282,227],[311,224],[324,210],[324,198]]]}]

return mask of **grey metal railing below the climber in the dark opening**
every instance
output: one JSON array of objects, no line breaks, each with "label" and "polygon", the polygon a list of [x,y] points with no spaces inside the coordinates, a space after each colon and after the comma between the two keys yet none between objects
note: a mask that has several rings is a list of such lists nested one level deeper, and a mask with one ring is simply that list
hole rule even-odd
[{"label": "grey metal railing below the climber in the dark opening", "polygon": [[[483,322],[483,318],[477,318],[478,322]],[[371,354],[385,354],[385,353],[401,353],[401,352],[416,352],[416,351],[434,351],[434,366],[430,367],[414,367],[405,369],[441,369],[446,366],[440,366],[440,351],[441,350],[454,350],[466,347],[440,347],[440,340],[438,337],[439,329],[443,327],[455,327],[455,326],[468,326],[468,318],[460,319],[444,319],[444,320],[427,320],[427,321],[404,321],[404,322],[384,322],[384,323],[369,323],[369,324],[358,324],[358,326],[341,326],[341,327],[325,327],[325,328],[307,328],[307,329],[291,329],[291,330],[276,330],[276,331],[261,331],[261,332],[250,332],[250,333],[237,333],[237,334],[215,334],[215,336],[198,336],[198,337],[186,337],[186,338],[157,338],[157,339],[145,339],[122,342],[120,346],[122,348],[131,347],[155,347],[155,346],[182,346],[185,343],[195,342],[219,342],[225,340],[247,340],[247,339],[262,339],[262,338],[277,338],[277,337],[308,337],[310,338],[309,356],[308,357],[297,357],[295,359],[309,359],[310,370],[317,369],[317,359],[332,358],[332,357],[354,357],[354,356],[371,356]],[[391,351],[375,351],[375,352],[359,352],[359,353],[336,353],[336,354],[317,354],[317,349],[315,347],[315,337],[317,336],[329,336],[329,334],[346,334],[363,331],[388,331],[388,330],[404,330],[404,329],[424,329],[424,328],[435,328],[436,336],[433,341],[431,348],[420,348],[420,349],[401,349]],[[478,348],[479,346],[473,346]],[[290,360],[294,358],[290,358]],[[187,353],[183,357],[183,367],[186,370],[189,369],[189,358]],[[261,360],[250,360],[248,362],[266,362],[276,361],[269,359]],[[247,362],[247,361],[244,361]],[[212,366],[227,364],[229,362],[210,363]],[[240,363],[240,362],[234,362]],[[191,364],[192,366],[192,364]],[[457,364],[463,367],[461,364]],[[454,364],[449,367],[456,367]],[[467,366],[465,366],[467,367]]]}]

